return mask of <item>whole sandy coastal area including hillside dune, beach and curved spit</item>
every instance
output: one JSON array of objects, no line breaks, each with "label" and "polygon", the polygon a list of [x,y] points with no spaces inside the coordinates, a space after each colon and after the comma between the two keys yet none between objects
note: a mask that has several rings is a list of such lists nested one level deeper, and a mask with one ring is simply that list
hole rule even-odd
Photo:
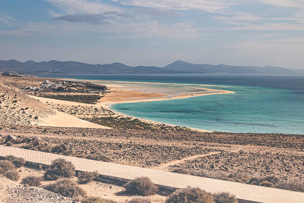
[{"label": "whole sandy coastal area including hillside dune, beach and curved spit", "polygon": [[[4,103],[2,103],[2,110],[9,111],[9,114],[5,116],[6,118],[13,120],[17,114],[18,117],[20,117],[17,122],[18,124],[53,127],[116,128],[127,130],[166,129],[169,131],[181,129],[197,130],[126,116],[119,112],[112,111],[110,107],[112,104],[117,103],[164,101],[211,94],[233,93],[231,91],[216,89],[216,87],[220,86],[76,79],[56,80],[92,82],[98,85],[105,85],[107,90],[99,94],[69,91],[26,92],[24,91],[25,85],[39,86],[44,80],[54,81],[54,79],[25,77],[1,77],[1,79],[3,79],[3,85],[5,85],[5,83],[10,84],[10,87],[5,86],[6,90],[11,92],[10,99],[15,96],[14,92],[16,92],[16,96],[20,98],[18,102],[14,104],[20,107],[16,109],[6,108],[5,106],[8,104],[9,100],[6,100],[5,98],[3,99]],[[214,87],[214,89],[212,87]],[[226,86],[221,87],[223,89],[226,88]],[[5,92],[2,94],[5,96]],[[20,110],[25,109],[26,107],[31,107],[30,110],[33,109],[33,111],[24,110],[24,112],[22,112],[22,110]],[[40,114],[38,114],[38,112],[40,112]],[[36,115],[38,115],[38,119],[33,119]],[[197,131],[210,132],[205,130]]]}]

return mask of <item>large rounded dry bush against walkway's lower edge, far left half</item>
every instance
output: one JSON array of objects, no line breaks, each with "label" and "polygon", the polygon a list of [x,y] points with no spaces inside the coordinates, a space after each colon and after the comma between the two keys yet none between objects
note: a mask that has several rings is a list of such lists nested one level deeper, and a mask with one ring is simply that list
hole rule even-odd
[{"label": "large rounded dry bush against walkway's lower edge, far left half", "polygon": [[55,159],[44,173],[46,180],[57,180],[58,178],[70,178],[75,176],[75,166],[65,159]]}]

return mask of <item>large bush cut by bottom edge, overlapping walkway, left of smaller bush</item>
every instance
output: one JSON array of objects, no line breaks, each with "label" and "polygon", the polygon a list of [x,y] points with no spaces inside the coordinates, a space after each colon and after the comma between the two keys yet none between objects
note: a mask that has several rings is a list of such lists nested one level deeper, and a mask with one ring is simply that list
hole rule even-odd
[{"label": "large bush cut by bottom edge, overlapping walkway, left of smaller bush", "polygon": [[165,203],[214,203],[210,193],[199,187],[187,187],[173,192]]}]

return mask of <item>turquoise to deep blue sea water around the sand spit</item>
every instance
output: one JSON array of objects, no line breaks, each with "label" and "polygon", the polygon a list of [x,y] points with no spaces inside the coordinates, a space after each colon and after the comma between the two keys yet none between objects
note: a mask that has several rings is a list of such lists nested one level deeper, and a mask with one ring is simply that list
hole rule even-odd
[{"label": "turquoise to deep blue sea water around the sand spit", "polygon": [[238,94],[122,103],[112,105],[111,109],[151,121],[211,131],[304,134],[304,75],[70,74],[47,77],[229,86],[215,89]]}]

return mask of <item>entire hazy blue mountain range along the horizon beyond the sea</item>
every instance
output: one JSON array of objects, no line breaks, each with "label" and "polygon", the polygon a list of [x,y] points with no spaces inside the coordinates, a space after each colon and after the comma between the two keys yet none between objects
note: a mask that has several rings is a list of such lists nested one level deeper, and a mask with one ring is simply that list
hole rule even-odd
[{"label": "entire hazy blue mountain range along the horizon beyond the sea", "polygon": [[26,61],[0,60],[0,71],[28,74],[112,74],[112,73],[244,73],[244,74],[297,74],[296,71],[281,67],[233,66],[192,64],[175,61],[163,68],[155,66],[127,66],[122,63],[91,65],[76,61]]}]

